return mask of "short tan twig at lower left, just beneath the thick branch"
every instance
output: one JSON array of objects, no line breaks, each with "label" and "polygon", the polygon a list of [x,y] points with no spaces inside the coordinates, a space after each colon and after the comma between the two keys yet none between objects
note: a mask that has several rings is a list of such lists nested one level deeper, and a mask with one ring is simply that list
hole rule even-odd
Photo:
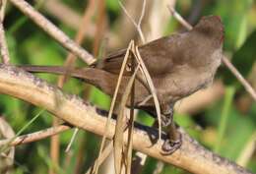
[{"label": "short tan twig at lower left, just beneath the thick branch", "polygon": [[[32,142],[36,142],[36,141],[39,141],[39,140],[57,135],[59,133],[67,131],[71,128],[72,128],[72,126],[69,126],[69,125],[59,125],[57,127],[48,128],[48,129],[38,131],[38,132],[35,132],[35,133],[32,133],[32,134],[19,136],[15,140],[11,141],[10,145],[16,146],[16,145],[29,144],[29,143],[32,143]],[[0,146],[8,144],[10,142],[10,140],[9,139],[1,140],[0,141]]]}]

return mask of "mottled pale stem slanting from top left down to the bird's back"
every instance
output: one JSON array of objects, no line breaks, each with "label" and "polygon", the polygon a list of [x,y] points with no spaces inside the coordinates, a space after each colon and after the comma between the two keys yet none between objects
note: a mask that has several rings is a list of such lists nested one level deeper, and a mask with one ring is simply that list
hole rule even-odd
[{"label": "mottled pale stem slanting from top left down to the bird's back", "polygon": [[32,6],[24,0],[10,0],[17,8],[19,8],[25,15],[32,19],[41,29],[46,31],[49,35],[60,42],[64,47],[74,52],[82,60],[89,65],[93,64],[96,59],[88,53],[84,48],[79,46],[76,42],[70,39],[62,30],[58,29],[40,13],[35,11]]}]

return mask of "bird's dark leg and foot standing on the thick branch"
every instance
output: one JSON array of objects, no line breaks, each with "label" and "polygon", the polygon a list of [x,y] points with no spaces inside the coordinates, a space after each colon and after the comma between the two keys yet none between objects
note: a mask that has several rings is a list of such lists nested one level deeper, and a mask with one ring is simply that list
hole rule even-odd
[{"label": "bird's dark leg and foot standing on the thick branch", "polygon": [[182,144],[181,134],[173,122],[173,105],[161,108],[161,125],[166,128],[168,139],[163,143],[164,154],[171,154]]}]

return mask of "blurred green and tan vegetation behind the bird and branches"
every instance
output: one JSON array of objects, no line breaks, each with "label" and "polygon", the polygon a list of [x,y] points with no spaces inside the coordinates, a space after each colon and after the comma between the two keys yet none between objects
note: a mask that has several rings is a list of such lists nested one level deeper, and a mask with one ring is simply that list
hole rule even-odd
[{"label": "blurred green and tan vegetation behind the bird and branches", "polygon": [[[39,0],[29,1],[40,13],[62,29],[71,38],[75,38],[82,24],[84,14],[89,10],[87,0]],[[53,4],[53,2],[55,4]],[[136,29],[123,14],[118,1],[98,1],[91,9],[93,15],[85,28],[82,46],[96,57],[106,52],[124,48],[130,39],[138,38]],[[135,19],[141,13],[140,0],[122,1]],[[143,31],[148,40],[160,35],[184,30],[174,18],[170,18],[166,5],[170,1],[148,0]],[[50,4],[52,3],[52,4]],[[64,7],[64,9],[58,8]],[[160,10],[162,8],[162,10]],[[224,53],[256,87],[256,1],[253,0],[179,0],[175,9],[192,25],[202,16],[219,15],[224,22]],[[60,12],[58,15],[57,12]],[[70,14],[71,13],[71,14]],[[73,15],[73,16],[72,16]],[[157,16],[157,21],[153,16]],[[152,27],[150,24],[156,23]],[[159,25],[158,25],[159,24]],[[9,3],[4,21],[7,42],[13,64],[63,65],[68,54],[61,45],[35,26],[30,19]],[[139,39],[138,39],[139,40]],[[77,60],[74,66],[86,66]],[[55,75],[36,75],[51,84],[56,84]],[[243,165],[256,173],[256,103],[232,74],[222,66],[216,78],[221,84],[222,94],[200,109],[175,113],[176,122],[189,134],[220,155]],[[109,107],[110,98],[95,87],[85,86],[78,80],[69,79],[64,90],[89,99],[101,108]],[[208,97],[208,96],[205,96]],[[194,100],[200,100],[198,98]],[[181,102],[182,105],[182,102]],[[181,107],[181,106],[180,106]],[[30,103],[0,94],[0,113],[17,133],[41,110]],[[43,112],[23,134],[32,133],[50,127],[53,117]],[[138,121],[150,125],[151,117],[139,112]],[[12,173],[48,173],[52,166],[57,173],[84,173],[96,158],[99,137],[80,131],[69,154],[64,150],[73,131],[60,135],[59,164],[50,157],[50,141],[45,139],[29,145],[16,147],[15,164]],[[154,173],[158,161],[148,158],[142,173]],[[106,166],[104,166],[106,167]],[[109,166],[108,166],[109,167]],[[188,173],[171,165],[164,165],[161,174]]]}]

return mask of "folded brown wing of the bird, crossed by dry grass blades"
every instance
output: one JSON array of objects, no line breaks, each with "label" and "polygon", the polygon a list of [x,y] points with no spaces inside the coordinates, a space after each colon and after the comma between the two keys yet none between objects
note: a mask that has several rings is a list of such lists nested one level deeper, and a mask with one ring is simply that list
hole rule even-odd
[{"label": "folded brown wing of the bird, crossed by dry grass blades", "polygon": [[[141,57],[152,76],[171,71],[175,59],[174,55],[179,51],[178,42],[180,42],[181,37],[182,34],[173,34],[139,46]],[[96,67],[109,73],[119,74],[125,53],[126,49],[122,49],[110,54],[101,59]],[[125,75],[130,75],[130,72],[126,71]]]}]

